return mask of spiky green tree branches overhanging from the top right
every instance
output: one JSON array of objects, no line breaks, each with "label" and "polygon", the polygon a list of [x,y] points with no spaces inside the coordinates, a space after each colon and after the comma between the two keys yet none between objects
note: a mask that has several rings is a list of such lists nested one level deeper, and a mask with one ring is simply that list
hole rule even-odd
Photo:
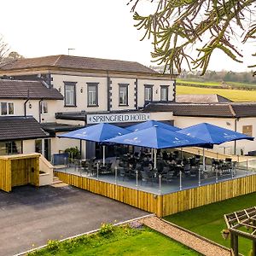
[{"label": "spiky green tree branches overhanging from the top right", "polygon": [[[255,0],[150,0],[151,15],[137,13],[142,0],[130,0],[138,30],[153,38],[154,61],[180,73],[182,64],[206,73],[212,53],[219,49],[242,62],[238,46],[256,38]],[[197,55],[190,54],[191,46]],[[253,53],[252,53],[253,54]],[[254,53],[256,56],[256,53]],[[256,67],[252,65],[250,67]]]}]

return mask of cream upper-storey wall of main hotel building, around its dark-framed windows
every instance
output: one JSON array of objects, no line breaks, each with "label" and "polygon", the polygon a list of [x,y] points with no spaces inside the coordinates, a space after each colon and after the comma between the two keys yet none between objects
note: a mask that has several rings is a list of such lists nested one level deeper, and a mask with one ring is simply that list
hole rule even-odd
[{"label": "cream upper-storey wall of main hotel building, around its dark-framed windows", "polygon": [[[102,74],[100,77],[99,74],[91,75],[91,76],[83,76],[83,75],[62,75],[62,74],[53,74],[53,86],[57,90],[61,90],[61,94],[64,96],[64,81],[66,82],[76,82],[76,99],[77,106],[76,107],[64,107],[64,101],[58,102],[56,104],[53,111],[55,112],[79,112],[82,110],[86,110],[88,112],[99,112],[99,111],[107,111],[108,110],[108,80],[105,74]],[[131,75],[122,75],[122,77],[111,76],[110,87],[112,88],[110,92],[111,96],[111,110],[122,110],[122,109],[134,109],[135,105],[135,82],[137,79],[137,100],[138,107],[144,106],[144,85],[145,84],[153,84],[153,100],[160,101],[160,85],[168,85],[168,100],[173,100],[173,89],[174,89],[174,81],[171,79],[162,79],[160,77],[148,78],[148,79],[140,79],[137,76],[132,77]],[[86,83],[99,83],[98,85],[98,104],[99,107],[87,107],[87,84]],[[129,84],[128,86],[128,101],[129,106],[119,106],[119,84]],[[83,92],[81,93],[81,89]]]}]

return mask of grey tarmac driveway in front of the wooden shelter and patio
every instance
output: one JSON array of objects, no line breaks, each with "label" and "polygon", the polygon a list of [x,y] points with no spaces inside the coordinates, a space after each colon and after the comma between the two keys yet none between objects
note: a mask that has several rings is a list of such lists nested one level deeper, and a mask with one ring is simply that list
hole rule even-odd
[{"label": "grey tarmac driveway in front of the wooden shelter and patio", "polygon": [[0,192],[0,255],[42,246],[90,230],[102,222],[122,222],[148,214],[101,195],[65,186],[13,188]]}]

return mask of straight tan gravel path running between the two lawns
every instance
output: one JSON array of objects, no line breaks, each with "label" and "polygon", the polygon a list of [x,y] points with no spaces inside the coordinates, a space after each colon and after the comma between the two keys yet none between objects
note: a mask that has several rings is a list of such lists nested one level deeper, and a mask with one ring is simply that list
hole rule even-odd
[{"label": "straight tan gravel path running between the two lawns", "polygon": [[205,241],[197,236],[193,236],[192,234],[185,232],[184,230],[180,230],[171,224],[167,224],[165,221],[160,220],[160,218],[143,218],[140,220],[140,222],[153,230],[171,237],[173,240],[183,243],[187,247],[190,247],[203,255],[230,256],[229,250],[224,249],[223,247],[218,247],[217,245]]}]

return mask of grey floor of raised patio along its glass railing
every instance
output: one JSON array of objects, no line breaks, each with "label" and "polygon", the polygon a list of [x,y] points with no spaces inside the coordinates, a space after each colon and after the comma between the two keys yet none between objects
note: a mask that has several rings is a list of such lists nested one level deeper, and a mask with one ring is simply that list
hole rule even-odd
[{"label": "grey floor of raised patio along its glass railing", "polygon": [[[254,160],[255,161],[255,160]],[[212,165],[206,165],[206,171],[201,171],[201,177],[199,177],[199,172],[193,173],[193,175],[188,173],[177,173],[177,176],[171,177],[168,173],[157,173],[153,172],[152,176],[147,176],[145,178],[142,176],[141,172],[135,170],[129,171],[123,169],[109,169],[101,168],[102,163],[99,164],[98,171],[97,168],[93,170],[86,170],[84,167],[79,165],[71,164],[69,166],[61,166],[61,168],[55,168],[55,172],[64,172],[74,174],[80,177],[88,177],[91,179],[103,181],[106,183],[118,184],[131,189],[138,189],[141,191],[165,195],[172,192],[177,192],[184,189],[193,189],[199,185],[204,186],[212,183],[221,183],[230,179],[236,179],[238,177],[246,177],[256,174],[254,161],[250,162],[250,167],[247,168],[247,162],[238,163],[236,168],[227,170],[227,172],[214,172],[212,170]],[[108,163],[108,160],[107,160]],[[108,164],[106,164],[108,165]],[[97,166],[97,164],[96,164]],[[200,165],[200,170],[203,166]]]}]

